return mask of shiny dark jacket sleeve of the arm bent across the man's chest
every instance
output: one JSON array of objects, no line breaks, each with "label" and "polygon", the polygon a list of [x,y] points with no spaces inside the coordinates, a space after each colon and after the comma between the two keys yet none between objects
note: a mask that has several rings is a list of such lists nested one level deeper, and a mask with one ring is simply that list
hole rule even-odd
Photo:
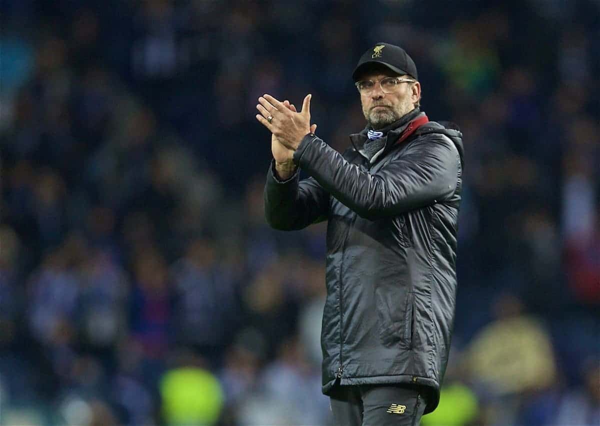
[{"label": "shiny dark jacket sleeve of the arm bent across the man's chest", "polygon": [[442,201],[456,189],[460,157],[451,140],[422,137],[377,173],[350,164],[314,134],[308,134],[293,161],[349,209],[378,219]]}]

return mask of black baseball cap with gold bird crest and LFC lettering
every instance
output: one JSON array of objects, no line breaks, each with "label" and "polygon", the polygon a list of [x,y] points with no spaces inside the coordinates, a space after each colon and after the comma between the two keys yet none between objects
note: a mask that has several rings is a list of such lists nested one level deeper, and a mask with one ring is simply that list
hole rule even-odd
[{"label": "black baseball cap with gold bird crest and LFC lettering", "polygon": [[408,53],[401,47],[389,43],[376,43],[375,46],[363,53],[352,72],[352,79],[356,81],[362,72],[375,64],[385,65],[400,75],[408,74],[415,80],[419,79],[415,62]]}]

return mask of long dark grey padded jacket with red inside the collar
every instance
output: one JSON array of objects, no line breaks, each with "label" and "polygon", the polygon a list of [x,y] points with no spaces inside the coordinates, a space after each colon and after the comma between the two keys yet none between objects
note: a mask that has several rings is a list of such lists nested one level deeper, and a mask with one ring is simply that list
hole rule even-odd
[{"label": "long dark grey padded jacket with red inside the collar", "polygon": [[323,393],[336,380],[416,383],[429,391],[428,413],[454,322],[463,143],[426,118],[404,116],[371,162],[361,154],[367,129],[343,155],[306,135],[293,161],[310,177],[281,181],[272,162],[265,215],[286,231],[328,220]]}]

